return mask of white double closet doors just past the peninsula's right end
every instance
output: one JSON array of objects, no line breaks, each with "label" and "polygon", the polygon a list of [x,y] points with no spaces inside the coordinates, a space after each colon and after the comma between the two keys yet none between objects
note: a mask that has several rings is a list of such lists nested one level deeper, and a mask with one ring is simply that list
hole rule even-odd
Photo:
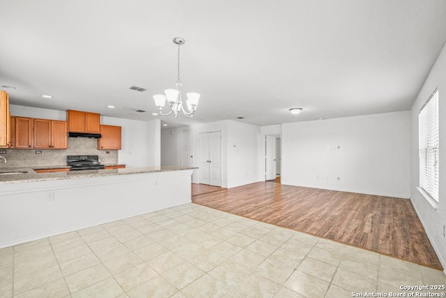
[{"label": "white double closet doors just past the peninsula's right end", "polygon": [[199,182],[222,186],[222,133],[200,133]]}]

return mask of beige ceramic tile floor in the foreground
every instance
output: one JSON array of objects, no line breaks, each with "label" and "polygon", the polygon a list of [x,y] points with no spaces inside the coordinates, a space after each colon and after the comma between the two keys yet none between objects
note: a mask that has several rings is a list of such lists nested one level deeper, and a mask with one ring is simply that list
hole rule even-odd
[{"label": "beige ceramic tile floor in the foreground", "polygon": [[0,249],[2,298],[445,292],[415,285],[446,276],[192,203]]}]

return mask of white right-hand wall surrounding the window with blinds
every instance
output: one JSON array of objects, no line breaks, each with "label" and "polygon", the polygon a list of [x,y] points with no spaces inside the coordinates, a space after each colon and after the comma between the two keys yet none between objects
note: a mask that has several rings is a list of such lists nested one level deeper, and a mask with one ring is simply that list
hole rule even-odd
[{"label": "white right-hand wall surrounding the window with blinds", "polygon": [[[438,87],[438,108],[440,115],[440,184],[438,209],[433,209],[424,196],[417,190],[420,185],[418,159],[418,112],[432,92]],[[446,225],[446,45],[431,69],[420,94],[418,94],[412,110],[412,142],[411,142],[411,179],[410,200],[417,211],[424,229],[436,250],[443,268],[446,268],[446,237],[443,226]],[[446,272],[446,271],[445,271]]]}]

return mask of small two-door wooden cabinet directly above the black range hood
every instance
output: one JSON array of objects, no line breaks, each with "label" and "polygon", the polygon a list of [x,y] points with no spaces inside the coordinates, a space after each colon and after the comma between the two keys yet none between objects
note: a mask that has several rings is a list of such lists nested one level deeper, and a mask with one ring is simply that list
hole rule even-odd
[{"label": "small two-door wooden cabinet directly above the black range hood", "polygon": [[68,131],[100,133],[100,114],[67,110]]}]

